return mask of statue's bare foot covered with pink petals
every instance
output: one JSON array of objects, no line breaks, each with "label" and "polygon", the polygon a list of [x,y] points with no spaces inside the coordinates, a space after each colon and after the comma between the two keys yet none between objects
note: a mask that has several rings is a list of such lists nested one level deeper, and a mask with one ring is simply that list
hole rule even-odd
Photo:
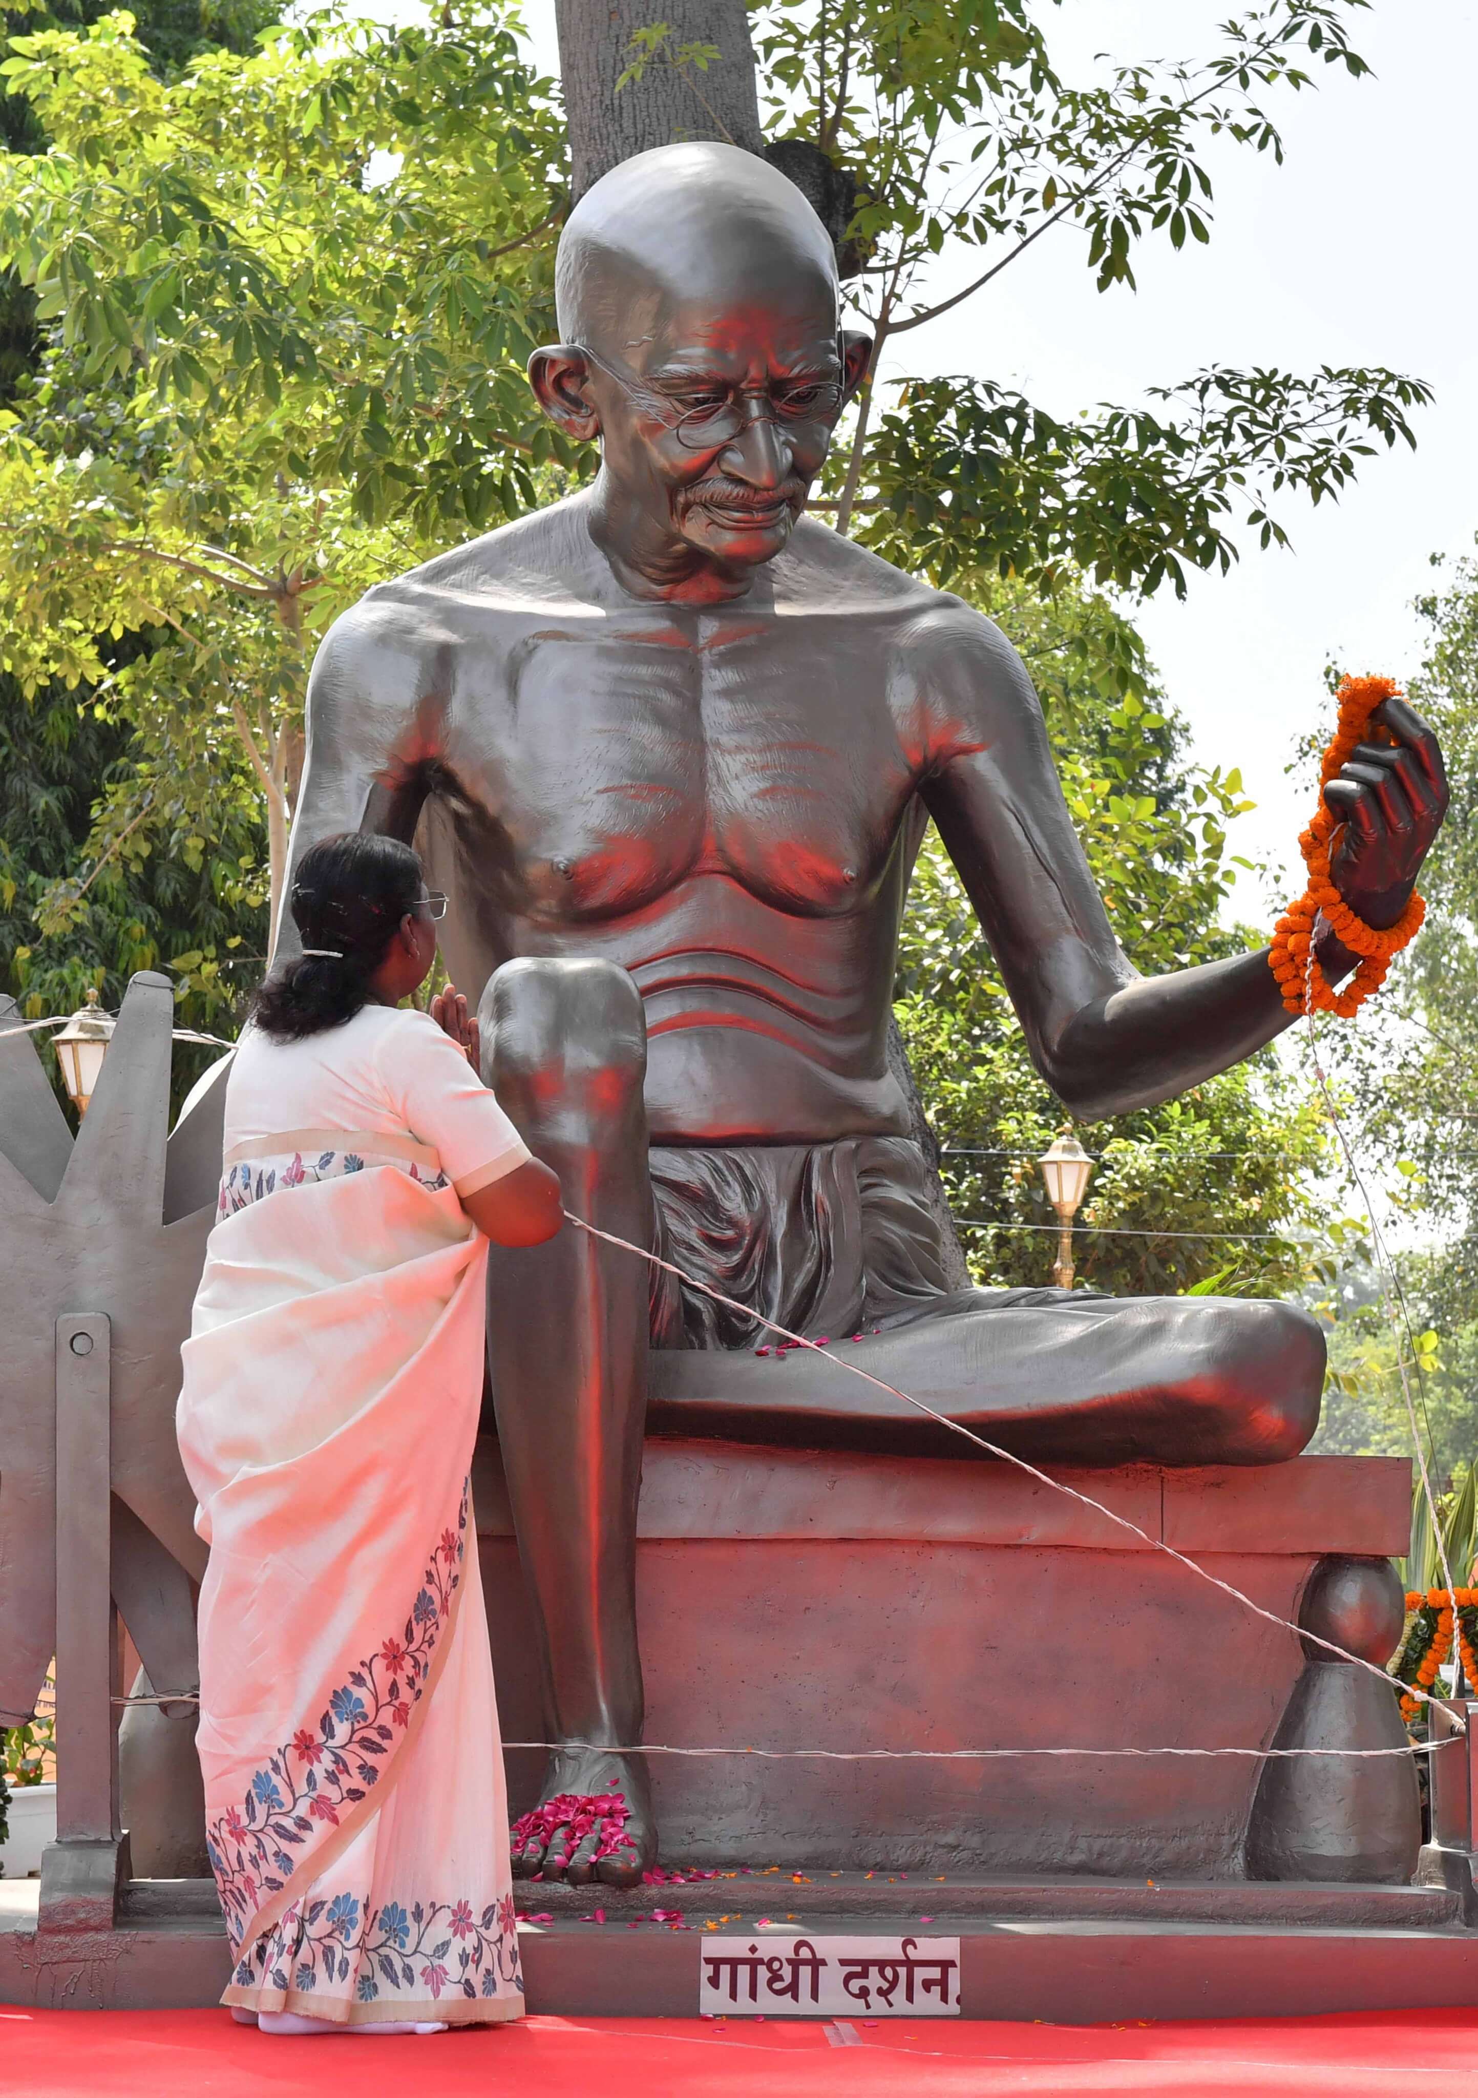
[{"label": "statue's bare foot covered with pink petals", "polygon": [[604,1748],[562,1748],[549,1758],[539,1804],[512,1829],[516,1880],[570,1886],[639,1886],[656,1865],[656,1821],[646,1764]]}]

